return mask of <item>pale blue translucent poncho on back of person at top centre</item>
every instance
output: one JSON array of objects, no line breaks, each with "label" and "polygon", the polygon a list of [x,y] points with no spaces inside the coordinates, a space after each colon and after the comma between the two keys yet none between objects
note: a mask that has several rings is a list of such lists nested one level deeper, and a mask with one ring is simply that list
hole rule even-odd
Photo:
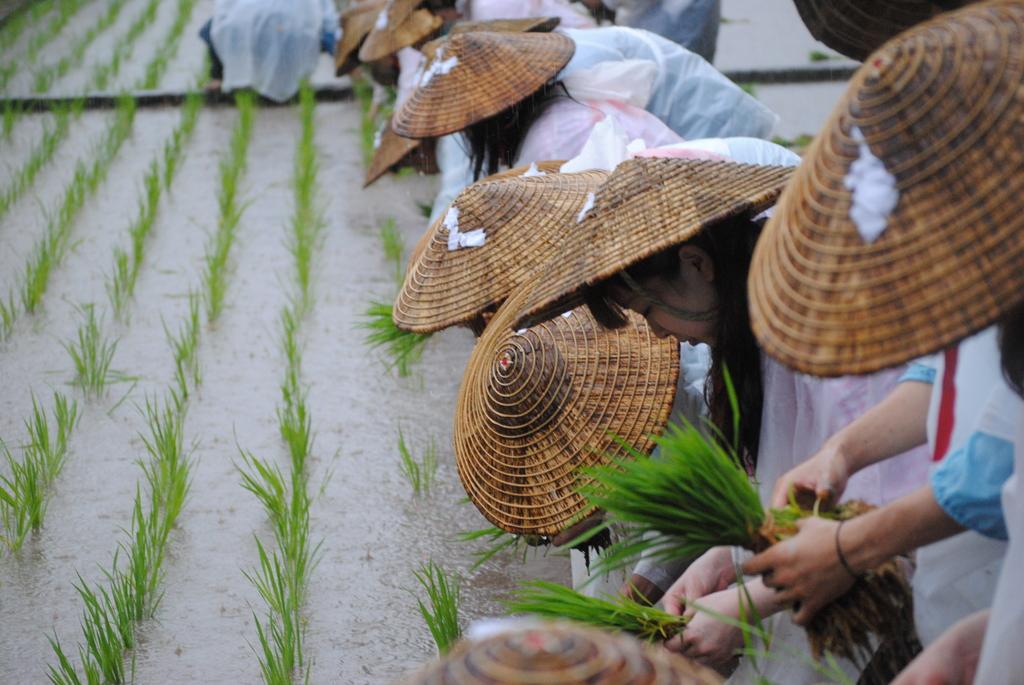
[{"label": "pale blue translucent poncho on back of person at top centre", "polygon": [[656,76],[644,109],[683,138],[764,138],[778,121],[700,55],[648,31],[624,27],[559,31],[575,43],[559,79],[599,62],[652,61]]}]

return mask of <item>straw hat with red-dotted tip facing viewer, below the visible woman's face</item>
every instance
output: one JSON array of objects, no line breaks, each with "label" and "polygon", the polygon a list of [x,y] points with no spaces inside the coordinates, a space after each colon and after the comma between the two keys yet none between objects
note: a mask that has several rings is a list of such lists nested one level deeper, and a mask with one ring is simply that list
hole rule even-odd
[{"label": "straw hat with red-dotted tip facing viewer, below the visible woman's face", "polygon": [[[528,289],[529,285],[525,286]],[[508,532],[554,536],[590,507],[579,470],[649,454],[669,420],[679,344],[640,316],[603,329],[586,308],[513,333],[526,290],[498,310],[470,356],[455,422],[466,494]]]}]

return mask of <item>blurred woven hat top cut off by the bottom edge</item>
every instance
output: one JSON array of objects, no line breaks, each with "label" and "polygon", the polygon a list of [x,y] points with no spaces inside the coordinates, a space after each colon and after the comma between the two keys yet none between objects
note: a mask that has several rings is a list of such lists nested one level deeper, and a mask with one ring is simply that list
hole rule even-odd
[{"label": "blurred woven hat top cut off by the bottom edge", "polygon": [[718,685],[712,671],[621,633],[568,623],[455,645],[404,685]]}]

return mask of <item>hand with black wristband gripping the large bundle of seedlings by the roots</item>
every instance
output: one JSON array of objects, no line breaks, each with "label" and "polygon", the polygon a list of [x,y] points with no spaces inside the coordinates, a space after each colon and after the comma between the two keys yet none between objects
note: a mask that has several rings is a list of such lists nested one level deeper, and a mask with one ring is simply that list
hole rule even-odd
[{"label": "hand with black wristband gripping the large bundle of seedlings by the roots", "polygon": [[793,606],[797,625],[806,625],[854,583],[836,551],[838,526],[822,518],[801,519],[796,536],[743,564],[743,572],[761,574],[766,586],[778,591],[776,601]]}]

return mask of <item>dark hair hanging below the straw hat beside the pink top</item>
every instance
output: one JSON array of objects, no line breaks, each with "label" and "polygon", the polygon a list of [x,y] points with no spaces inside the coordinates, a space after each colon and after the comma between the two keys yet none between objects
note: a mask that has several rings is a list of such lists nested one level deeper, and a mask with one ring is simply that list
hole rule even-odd
[{"label": "dark hair hanging below the straw hat beside the pink top", "polygon": [[511,167],[530,124],[554,97],[568,97],[561,81],[552,81],[512,106],[463,130],[469,144],[473,180],[496,174],[502,165]]}]

